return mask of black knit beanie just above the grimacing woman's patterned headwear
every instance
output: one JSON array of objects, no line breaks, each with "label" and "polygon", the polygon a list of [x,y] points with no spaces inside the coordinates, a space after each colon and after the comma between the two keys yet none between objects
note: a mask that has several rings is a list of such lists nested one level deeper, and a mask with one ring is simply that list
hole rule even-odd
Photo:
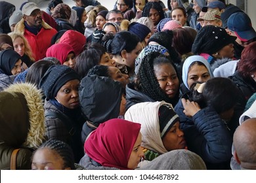
[{"label": "black knit beanie just above the grimacing woman's patterned headwear", "polygon": [[148,40],[148,43],[150,41],[158,42],[158,44],[167,48],[170,53],[173,50],[173,47],[171,46],[173,44],[173,31],[166,30],[154,33]]}]

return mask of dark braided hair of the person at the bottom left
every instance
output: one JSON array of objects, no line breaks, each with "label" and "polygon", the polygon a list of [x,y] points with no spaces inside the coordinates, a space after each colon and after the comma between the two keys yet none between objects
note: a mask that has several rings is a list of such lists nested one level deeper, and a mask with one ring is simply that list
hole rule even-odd
[{"label": "dark braided hair of the person at the bottom left", "polygon": [[[75,170],[74,154],[72,148],[70,148],[70,146],[66,142],[49,140],[44,142],[37,150],[42,148],[49,148],[51,150],[54,150],[54,152],[56,152],[63,159],[63,168],[70,167],[72,170]],[[33,152],[33,155],[35,154],[35,152]]]}]

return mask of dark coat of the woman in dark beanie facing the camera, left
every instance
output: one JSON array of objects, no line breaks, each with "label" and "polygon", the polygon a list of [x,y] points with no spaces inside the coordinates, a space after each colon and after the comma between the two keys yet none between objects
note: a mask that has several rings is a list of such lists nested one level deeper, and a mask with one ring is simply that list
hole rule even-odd
[{"label": "dark coat of the woman in dark beanie facing the camera, left", "polygon": [[[44,108],[48,139],[64,141],[69,144],[74,152],[75,163],[78,163],[84,154],[83,143],[81,142],[83,118],[78,116],[77,119],[71,119],[64,112],[58,110],[48,99],[45,99]],[[49,115],[49,112],[56,112],[58,116]]]}]

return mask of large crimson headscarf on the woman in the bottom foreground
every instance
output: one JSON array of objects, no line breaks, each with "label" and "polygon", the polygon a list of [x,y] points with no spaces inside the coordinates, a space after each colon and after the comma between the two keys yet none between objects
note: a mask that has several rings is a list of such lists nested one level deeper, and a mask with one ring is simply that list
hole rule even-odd
[{"label": "large crimson headscarf on the woman in the bottom foreground", "polygon": [[112,119],[100,124],[85,141],[86,154],[104,167],[128,169],[140,124]]}]

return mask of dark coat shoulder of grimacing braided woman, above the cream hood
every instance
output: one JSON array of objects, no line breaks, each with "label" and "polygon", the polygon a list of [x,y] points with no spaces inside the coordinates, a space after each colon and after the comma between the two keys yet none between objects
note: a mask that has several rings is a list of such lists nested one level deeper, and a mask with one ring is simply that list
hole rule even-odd
[{"label": "dark coat shoulder of grimacing braided woman, above the cream hood", "polygon": [[127,84],[126,88],[126,110],[130,108],[132,105],[143,102],[155,102],[153,99],[135,90],[135,86],[133,83]]}]

